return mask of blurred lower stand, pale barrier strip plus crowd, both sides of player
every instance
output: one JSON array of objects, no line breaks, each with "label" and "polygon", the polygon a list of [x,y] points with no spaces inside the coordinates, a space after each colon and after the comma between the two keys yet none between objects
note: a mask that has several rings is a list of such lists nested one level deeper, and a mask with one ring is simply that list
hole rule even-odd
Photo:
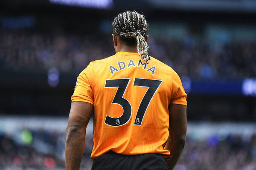
[{"label": "blurred lower stand, pale barrier strip plus crowd, both sides of player", "polygon": [[[64,170],[65,117],[0,117],[0,168]],[[19,122],[17,124],[17,122]],[[81,169],[90,170],[92,120]],[[256,125],[190,122],[175,170],[255,170]]]}]

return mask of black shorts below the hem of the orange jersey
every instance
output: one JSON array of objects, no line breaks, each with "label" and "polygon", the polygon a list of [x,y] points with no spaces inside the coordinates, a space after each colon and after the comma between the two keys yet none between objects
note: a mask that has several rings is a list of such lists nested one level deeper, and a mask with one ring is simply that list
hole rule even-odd
[{"label": "black shorts below the hem of the orange jersey", "polygon": [[158,153],[121,155],[109,151],[93,161],[92,170],[168,170],[168,167]]}]

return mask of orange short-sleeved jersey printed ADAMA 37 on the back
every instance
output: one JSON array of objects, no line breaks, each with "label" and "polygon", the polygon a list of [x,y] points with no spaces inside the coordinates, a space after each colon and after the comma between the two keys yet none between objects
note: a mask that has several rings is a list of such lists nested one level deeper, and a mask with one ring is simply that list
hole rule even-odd
[{"label": "orange short-sleeved jersey printed ADAMA 37 on the back", "polygon": [[187,95],[175,71],[150,58],[147,64],[138,53],[118,52],[79,74],[71,101],[94,105],[92,159],[110,150],[170,159],[168,105],[186,105]]}]

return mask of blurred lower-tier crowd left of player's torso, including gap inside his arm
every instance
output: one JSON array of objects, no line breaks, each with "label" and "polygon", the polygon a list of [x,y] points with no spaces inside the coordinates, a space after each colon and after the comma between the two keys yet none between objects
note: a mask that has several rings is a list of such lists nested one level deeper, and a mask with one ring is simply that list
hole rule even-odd
[{"label": "blurred lower-tier crowd left of player's torso, including gap inside his arm", "polygon": [[[81,167],[91,167],[92,134],[86,139]],[[8,136],[0,133],[0,170],[64,170],[65,133],[23,130]]]}]

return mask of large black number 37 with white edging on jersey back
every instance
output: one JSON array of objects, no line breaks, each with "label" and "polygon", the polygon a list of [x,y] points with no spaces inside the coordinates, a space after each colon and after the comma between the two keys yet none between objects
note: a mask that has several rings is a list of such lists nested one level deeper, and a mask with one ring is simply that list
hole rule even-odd
[{"label": "large black number 37 with white edging on jersey back", "polygon": [[[130,102],[128,102],[128,100],[123,98],[129,81],[130,79],[106,80],[105,88],[117,87],[117,91],[113,98],[112,104],[121,105],[123,108],[123,113],[120,117],[117,118],[113,118],[111,116],[106,115],[105,124],[110,126],[122,126],[130,120],[132,112],[131,104]],[[136,114],[134,125],[141,125],[148,105],[162,82],[162,80],[156,79],[135,78],[133,86],[148,87],[148,90],[146,91],[146,93],[143,96],[143,99],[140,102],[140,106]]]}]

